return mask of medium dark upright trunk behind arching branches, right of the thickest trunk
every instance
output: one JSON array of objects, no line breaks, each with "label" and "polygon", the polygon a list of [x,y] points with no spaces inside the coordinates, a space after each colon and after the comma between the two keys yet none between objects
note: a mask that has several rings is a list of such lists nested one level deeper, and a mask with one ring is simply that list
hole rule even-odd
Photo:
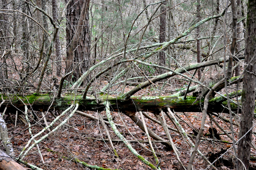
[{"label": "medium dark upright trunk behind arching branches, right of the thickest trunk", "polygon": [[[162,3],[160,12],[161,12],[161,15],[160,15],[159,42],[163,43],[163,42],[165,42],[165,37],[166,37],[166,1],[164,1]],[[160,66],[165,66],[165,53],[164,52],[159,52],[159,63],[158,64]],[[164,72],[164,70],[160,69],[160,74],[163,74],[163,72]]]}]

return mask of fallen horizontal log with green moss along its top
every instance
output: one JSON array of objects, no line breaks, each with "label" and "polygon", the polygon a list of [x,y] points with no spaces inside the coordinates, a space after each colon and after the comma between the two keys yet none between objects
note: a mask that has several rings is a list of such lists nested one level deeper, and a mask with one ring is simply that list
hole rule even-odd
[{"label": "fallen horizontal log with green moss along its top", "polygon": [[[65,97],[56,99],[53,95],[26,95],[26,96],[3,96],[6,100],[0,112],[7,107],[7,112],[16,112],[16,110],[22,111],[27,105],[28,108],[33,110],[46,111],[49,107],[55,110],[65,110],[74,101],[79,103],[78,110],[90,110],[90,111],[102,111],[105,110],[105,101],[108,100],[111,104],[111,111],[119,111],[125,113],[128,116],[133,116],[138,111],[148,111],[159,113],[161,109],[167,111],[167,108],[174,109],[176,112],[202,112],[204,107],[204,99],[196,101],[195,97],[188,96],[186,100],[183,97],[172,97],[172,96],[131,96],[129,100],[123,100],[118,96],[100,95],[98,98],[86,98],[82,99],[81,95],[66,95]],[[227,112],[228,110],[224,107],[226,101],[223,97],[215,97],[209,100],[208,111],[209,112]],[[241,108],[241,107],[239,107]],[[236,104],[231,104],[231,109],[236,112]],[[239,110],[240,112],[240,110]]]}]

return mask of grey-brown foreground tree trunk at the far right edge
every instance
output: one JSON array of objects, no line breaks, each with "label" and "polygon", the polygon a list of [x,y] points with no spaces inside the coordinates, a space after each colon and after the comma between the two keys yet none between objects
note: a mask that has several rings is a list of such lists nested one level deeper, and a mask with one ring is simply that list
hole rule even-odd
[{"label": "grey-brown foreground tree trunk at the far right edge", "polygon": [[[250,144],[252,140],[253,114],[255,109],[256,86],[256,0],[248,0],[247,33],[245,40],[245,64],[242,93],[242,112],[238,144],[238,158],[249,169]],[[249,133],[247,133],[249,131]],[[245,133],[247,133],[245,135]],[[245,135],[245,136],[244,136]],[[244,136],[244,137],[243,137]],[[243,138],[242,138],[243,137]],[[244,170],[241,161],[237,161],[236,170]]]}]

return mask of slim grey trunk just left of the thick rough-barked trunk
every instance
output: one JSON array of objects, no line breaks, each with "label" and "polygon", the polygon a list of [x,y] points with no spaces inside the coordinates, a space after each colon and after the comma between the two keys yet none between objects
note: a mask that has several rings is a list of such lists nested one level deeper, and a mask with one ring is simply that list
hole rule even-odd
[{"label": "slim grey trunk just left of the thick rough-barked trunk", "polygon": [[[55,22],[58,22],[58,12],[56,0],[52,0],[52,18]],[[56,64],[57,64],[57,76],[61,76],[61,42],[59,32],[57,32],[55,39],[55,54],[56,54]]]}]

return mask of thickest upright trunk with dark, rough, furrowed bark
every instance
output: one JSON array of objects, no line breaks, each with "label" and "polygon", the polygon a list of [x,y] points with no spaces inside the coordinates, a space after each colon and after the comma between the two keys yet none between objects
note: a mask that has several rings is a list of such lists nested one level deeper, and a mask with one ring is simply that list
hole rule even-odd
[{"label": "thickest upright trunk with dark, rough, furrowed bark", "polygon": [[75,81],[90,66],[89,4],[90,0],[72,0],[67,7],[66,72],[74,69]]}]

